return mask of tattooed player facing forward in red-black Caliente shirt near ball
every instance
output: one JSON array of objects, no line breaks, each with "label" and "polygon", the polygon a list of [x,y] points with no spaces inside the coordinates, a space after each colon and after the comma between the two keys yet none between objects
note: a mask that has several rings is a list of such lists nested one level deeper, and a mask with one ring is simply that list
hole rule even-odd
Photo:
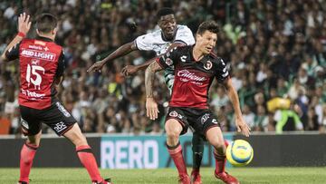
[{"label": "tattooed player facing forward in red-black Caliente shirt near ball", "polygon": [[146,109],[151,120],[158,118],[158,104],[153,99],[155,73],[173,65],[175,81],[165,130],[167,132],[168,153],[174,160],[182,184],[190,184],[187,168],[182,156],[179,135],[191,126],[214,148],[216,158],[215,176],[225,183],[239,183],[235,177],[225,172],[225,140],[216,115],[208,109],[208,90],[216,78],[223,84],[235,109],[235,125],[238,131],[249,136],[250,128],[242,117],[237,92],[232,84],[224,61],[212,53],[216,46],[218,24],[206,21],[199,25],[194,46],[176,47],[149,65],[145,74]]}]

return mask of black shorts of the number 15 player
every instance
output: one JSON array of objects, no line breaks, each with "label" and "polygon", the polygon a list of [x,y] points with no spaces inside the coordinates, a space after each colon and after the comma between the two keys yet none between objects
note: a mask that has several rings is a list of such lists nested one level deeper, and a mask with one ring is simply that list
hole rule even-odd
[{"label": "black shorts of the number 15 player", "polygon": [[55,133],[61,136],[72,128],[77,122],[61,102],[53,104],[43,110],[37,110],[25,106],[19,106],[21,113],[21,124],[24,135],[36,135],[42,129],[42,123],[48,125]]}]

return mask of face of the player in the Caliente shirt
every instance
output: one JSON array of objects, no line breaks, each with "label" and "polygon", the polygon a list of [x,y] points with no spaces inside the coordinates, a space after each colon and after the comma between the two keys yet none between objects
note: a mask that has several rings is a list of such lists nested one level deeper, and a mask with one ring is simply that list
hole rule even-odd
[{"label": "face of the player in the Caliente shirt", "polygon": [[211,53],[216,46],[217,34],[205,31],[204,34],[197,34],[197,48],[204,54]]}]

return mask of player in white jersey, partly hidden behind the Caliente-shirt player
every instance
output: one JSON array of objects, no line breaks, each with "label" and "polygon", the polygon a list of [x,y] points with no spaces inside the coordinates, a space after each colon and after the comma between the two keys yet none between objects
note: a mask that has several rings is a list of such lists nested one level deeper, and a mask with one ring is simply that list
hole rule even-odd
[{"label": "player in white jersey, partly hidden behind the Caliente-shirt player", "polygon": [[[167,53],[172,48],[182,45],[195,44],[194,35],[187,25],[177,24],[174,11],[171,8],[164,7],[158,10],[157,14],[159,30],[149,34],[143,34],[137,37],[133,42],[121,45],[113,53],[110,53],[103,60],[94,63],[87,72],[100,72],[102,67],[113,60],[124,56],[133,51],[154,51],[157,56]],[[139,70],[145,70],[152,60],[139,65],[129,65],[123,68],[124,75],[137,73]],[[168,89],[171,92],[174,82],[174,69],[167,68],[165,70],[165,81]],[[192,179],[194,184],[200,184],[201,178],[199,175],[199,167],[202,160],[204,150],[204,140],[194,133],[193,136],[193,171]]]}]

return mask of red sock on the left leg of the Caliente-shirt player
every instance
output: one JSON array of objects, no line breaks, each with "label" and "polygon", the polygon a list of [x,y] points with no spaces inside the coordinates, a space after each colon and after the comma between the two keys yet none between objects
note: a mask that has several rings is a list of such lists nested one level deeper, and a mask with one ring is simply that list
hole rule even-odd
[{"label": "red sock on the left leg of the Caliente-shirt player", "polygon": [[187,175],[187,167],[182,155],[182,147],[180,145],[180,142],[178,142],[177,146],[175,147],[170,147],[168,145],[167,147],[168,147],[168,153],[173,159],[179,175]]}]

